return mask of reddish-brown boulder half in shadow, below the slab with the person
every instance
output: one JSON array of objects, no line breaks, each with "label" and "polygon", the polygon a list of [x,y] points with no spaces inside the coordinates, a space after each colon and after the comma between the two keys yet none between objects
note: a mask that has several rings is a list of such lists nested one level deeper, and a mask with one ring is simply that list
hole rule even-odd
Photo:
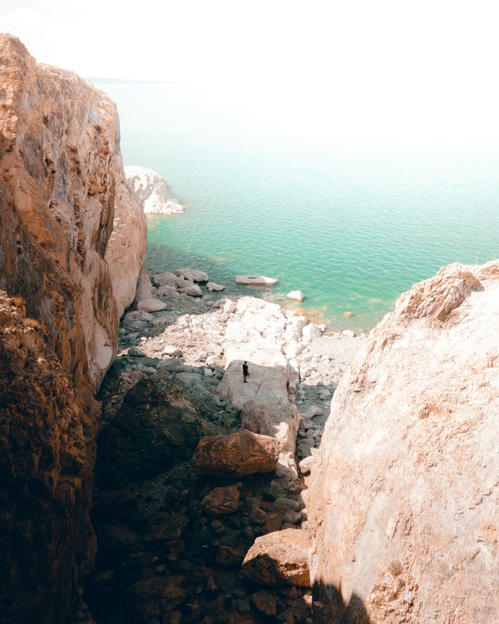
[{"label": "reddish-brown boulder half in shadow, below the slab with the person", "polygon": [[273,472],[278,458],[279,444],[276,440],[243,430],[227,436],[203,437],[192,462],[206,474],[238,478]]}]

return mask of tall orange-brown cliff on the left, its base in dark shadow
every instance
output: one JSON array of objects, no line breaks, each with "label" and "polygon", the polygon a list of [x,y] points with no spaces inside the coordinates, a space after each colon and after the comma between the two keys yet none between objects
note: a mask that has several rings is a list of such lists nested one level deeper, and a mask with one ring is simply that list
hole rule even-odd
[{"label": "tall orange-brown cliff on the left, its base in dark shadow", "polygon": [[94,394],[133,300],[145,218],[107,96],[2,35],[0,98],[2,621],[57,623],[93,557]]}]

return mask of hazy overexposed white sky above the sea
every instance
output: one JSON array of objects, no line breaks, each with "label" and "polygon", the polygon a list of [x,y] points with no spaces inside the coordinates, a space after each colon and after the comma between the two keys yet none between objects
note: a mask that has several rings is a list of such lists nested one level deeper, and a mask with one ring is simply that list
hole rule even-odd
[{"label": "hazy overexposed white sky above the sea", "polygon": [[0,0],[39,62],[207,82],[220,107],[346,135],[499,139],[498,17],[495,0]]}]

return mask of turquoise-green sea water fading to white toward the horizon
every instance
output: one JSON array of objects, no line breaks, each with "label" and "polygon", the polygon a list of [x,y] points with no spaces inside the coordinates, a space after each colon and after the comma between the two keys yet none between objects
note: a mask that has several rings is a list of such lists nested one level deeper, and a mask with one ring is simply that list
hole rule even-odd
[{"label": "turquoise-green sea water fading to white toward the horizon", "polygon": [[[371,329],[440,266],[499,257],[497,145],[304,138],[222,115],[182,85],[97,86],[117,102],[125,165],[166,177],[186,206],[148,218],[157,270],[201,268],[279,303],[299,289],[312,318]],[[237,290],[245,273],[279,283]]]}]

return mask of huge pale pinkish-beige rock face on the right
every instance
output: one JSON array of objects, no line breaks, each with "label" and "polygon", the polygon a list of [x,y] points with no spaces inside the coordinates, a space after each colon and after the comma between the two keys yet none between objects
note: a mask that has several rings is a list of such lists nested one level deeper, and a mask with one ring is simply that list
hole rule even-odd
[{"label": "huge pale pinkish-beige rock face on the right", "polygon": [[493,622],[499,262],[450,265],[357,351],[314,458],[316,622]]}]

